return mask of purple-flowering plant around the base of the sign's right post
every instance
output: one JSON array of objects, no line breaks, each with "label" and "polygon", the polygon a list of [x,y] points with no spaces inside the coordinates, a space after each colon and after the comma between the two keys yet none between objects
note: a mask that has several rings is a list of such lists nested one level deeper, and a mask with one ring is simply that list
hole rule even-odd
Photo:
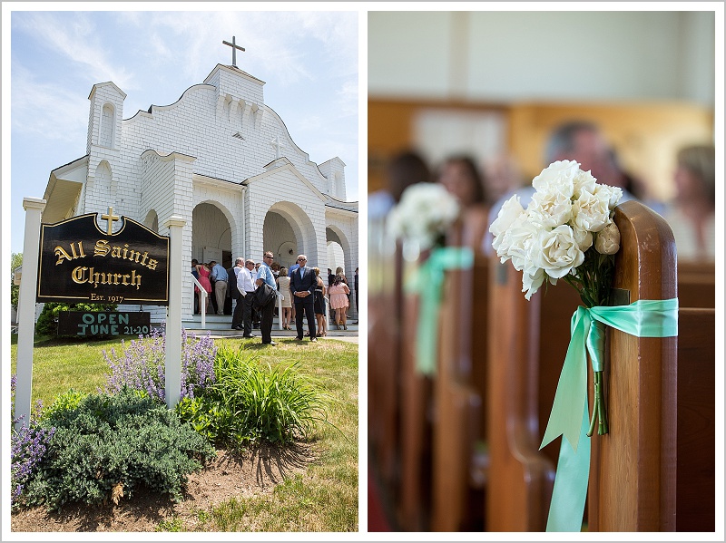
[{"label": "purple-flowering plant around the base of the sign's right post", "polygon": [[[122,340],[123,354],[103,351],[103,359],[109,364],[111,373],[105,392],[118,393],[123,386],[144,391],[152,398],[164,401],[164,348],[166,335],[152,330],[149,335],[140,335],[127,345]],[[182,329],[182,398],[193,398],[195,390],[204,388],[214,381],[214,357],[217,347],[207,334],[201,338],[188,337]]]}]

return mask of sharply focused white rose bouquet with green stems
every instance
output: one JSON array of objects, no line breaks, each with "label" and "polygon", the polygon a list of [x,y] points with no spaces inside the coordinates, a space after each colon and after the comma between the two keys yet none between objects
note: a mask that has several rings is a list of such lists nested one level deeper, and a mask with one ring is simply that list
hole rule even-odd
[{"label": "sharply focused white rose bouquet with green stems", "polygon": [[[489,228],[492,247],[502,263],[512,261],[522,272],[522,291],[529,300],[548,281],[563,279],[580,293],[586,307],[607,305],[614,254],[620,231],[613,210],[623,190],[597,183],[574,160],[550,164],[532,181],[535,194],[523,208],[518,196],[508,199]],[[599,324],[600,325],[600,324]],[[607,433],[602,372],[595,376],[598,433]]]}]

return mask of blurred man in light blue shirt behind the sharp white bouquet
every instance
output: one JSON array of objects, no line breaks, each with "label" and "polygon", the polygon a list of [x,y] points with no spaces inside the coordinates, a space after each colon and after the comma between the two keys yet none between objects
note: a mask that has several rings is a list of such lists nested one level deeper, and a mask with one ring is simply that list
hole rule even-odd
[{"label": "blurred man in light blue shirt behind the sharp white bouquet", "polygon": [[[602,131],[590,121],[568,121],[557,126],[547,138],[544,151],[544,168],[557,160],[575,160],[580,164],[580,170],[590,171],[598,183],[620,187],[623,189],[623,198],[620,202],[633,199],[625,184],[627,176],[618,167],[613,148],[605,140]],[[523,208],[527,207],[529,200],[535,194],[532,180],[528,179],[525,186],[515,189],[500,198],[489,211],[489,225],[486,228],[483,250],[486,255],[493,255],[492,234],[489,227],[495,221],[505,201],[514,194],[519,195],[519,202]]]}]

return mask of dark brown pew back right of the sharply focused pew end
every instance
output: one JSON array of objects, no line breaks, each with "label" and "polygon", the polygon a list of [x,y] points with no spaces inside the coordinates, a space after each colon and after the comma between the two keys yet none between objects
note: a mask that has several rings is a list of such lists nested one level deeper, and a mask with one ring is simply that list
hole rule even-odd
[{"label": "dark brown pew back right of the sharply focused pew end", "polygon": [[677,531],[712,532],[716,525],[715,313],[678,312]]}]

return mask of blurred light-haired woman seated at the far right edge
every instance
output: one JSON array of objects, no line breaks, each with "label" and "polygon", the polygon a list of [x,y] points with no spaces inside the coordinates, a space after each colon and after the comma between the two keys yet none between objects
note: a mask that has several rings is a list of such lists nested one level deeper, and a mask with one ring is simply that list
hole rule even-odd
[{"label": "blurred light-haired woman seated at the far right edge", "polygon": [[712,145],[678,151],[675,198],[663,212],[673,230],[679,260],[709,260],[716,254],[716,152]]}]

